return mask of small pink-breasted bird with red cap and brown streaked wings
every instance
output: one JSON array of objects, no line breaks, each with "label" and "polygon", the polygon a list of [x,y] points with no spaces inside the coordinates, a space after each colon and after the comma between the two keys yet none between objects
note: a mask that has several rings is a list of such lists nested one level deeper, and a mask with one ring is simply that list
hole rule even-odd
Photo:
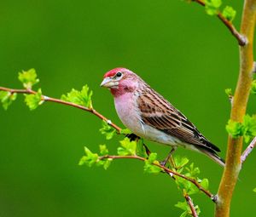
[{"label": "small pink-breasted bird with red cap and brown streaked wings", "polygon": [[177,146],[199,151],[224,166],[219,148],[134,72],[115,68],[104,75],[101,86],[110,89],[120,120],[133,134],[171,146],[172,151]]}]

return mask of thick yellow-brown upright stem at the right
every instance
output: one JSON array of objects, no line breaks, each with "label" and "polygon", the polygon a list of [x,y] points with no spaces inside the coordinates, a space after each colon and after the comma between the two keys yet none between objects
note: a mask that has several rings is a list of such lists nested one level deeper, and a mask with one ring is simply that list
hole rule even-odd
[{"label": "thick yellow-brown upright stem at the right", "polygon": [[[247,37],[240,47],[240,72],[233,98],[230,120],[242,123],[253,81],[253,39],[256,19],[256,0],[245,0],[241,19],[241,34]],[[242,137],[229,136],[224,174],[218,187],[215,217],[229,217],[233,191],[241,170]]]}]

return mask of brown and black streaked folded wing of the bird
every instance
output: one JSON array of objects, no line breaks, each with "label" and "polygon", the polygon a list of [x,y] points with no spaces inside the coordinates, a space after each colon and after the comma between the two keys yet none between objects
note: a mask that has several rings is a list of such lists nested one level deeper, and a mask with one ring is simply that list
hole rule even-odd
[{"label": "brown and black streaked folded wing of the bird", "polygon": [[183,142],[219,151],[218,147],[208,141],[187,117],[153,89],[147,89],[139,94],[137,103],[143,122],[149,126],[175,136]]}]

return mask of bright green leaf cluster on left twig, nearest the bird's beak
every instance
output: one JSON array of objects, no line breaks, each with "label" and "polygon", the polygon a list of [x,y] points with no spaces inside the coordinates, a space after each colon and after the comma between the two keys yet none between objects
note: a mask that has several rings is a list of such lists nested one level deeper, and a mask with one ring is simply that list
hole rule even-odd
[{"label": "bright green leaf cluster on left twig, nearest the bird's beak", "polygon": [[62,94],[61,100],[72,102],[79,106],[84,106],[91,109],[92,108],[91,96],[92,96],[92,91],[91,90],[89,91],[89,87],[87,85],[84,85],[81,91],[72,89],[69,93],[67,93],[67,95]]}]

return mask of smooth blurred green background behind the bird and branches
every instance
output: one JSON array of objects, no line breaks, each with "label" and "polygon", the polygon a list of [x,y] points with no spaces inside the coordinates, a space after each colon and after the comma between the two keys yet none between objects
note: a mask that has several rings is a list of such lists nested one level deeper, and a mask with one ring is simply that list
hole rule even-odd
[{"label": "smooth blurred green background behind the bird and branches", "polygon": [[[241,2],[232,3],[236,26]],[[20,88],[17,72],[32,67],[52,97],[87,83],[95,108],[120,126],[113,98],[99,83],[117,66],[136,71],[225,155],[230,102],[224,89],[236,85],[238,47],[224,25],[195,3],[2,0],[0,49],[0,86]],[[252,97],[248,113],[255,102]],[[177,186],[166,175],[143,174],[141,162],[119,160],[107,171],[78,166],[84,146],[97,151],[106,142],[100,127],[96,117],[67,106],[45,103],[29,111],[21,95],[9,111],[1,109],[0,217],[179,216],[174,204],[183,197]],[[107,143],[113,152],[118,139]],[[147,144],[160,157],[169,151]],[[195,162],[217,191],[218,164],[183,149],[177,154]],[[256,212],[255,157],[241,172],[232,216]],[[194,201],[201,216],[213,215],[204,195]]]}]

